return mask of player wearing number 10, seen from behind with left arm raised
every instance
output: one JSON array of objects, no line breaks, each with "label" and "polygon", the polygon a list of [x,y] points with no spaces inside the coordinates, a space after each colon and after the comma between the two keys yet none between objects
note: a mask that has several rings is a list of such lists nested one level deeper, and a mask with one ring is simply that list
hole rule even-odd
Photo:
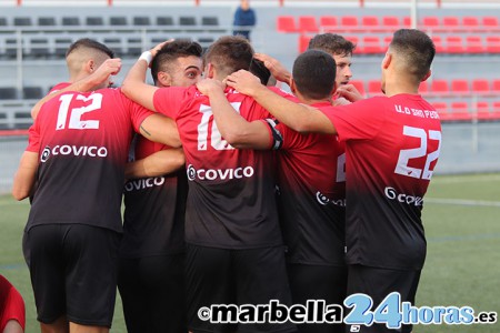
[{"label": "player wearing number 10, seen from behind with left arm raised", "polygon": [[[227,327],[198,317],[211,304],[290,304],[284,251],[274,199],[271,151],[237,150],[221,138],[209,99],[196,87],[144,83],[144,52],[122,89],[132,100],[176,120],[186,154],[189,193],[186,213],[188,323],[193,332],[292,332],[294,325],[254,323]],[[253,49],[243,37],[222,37],[204,56],[204,74],[222,80],[249,69]],[[247,120],[269,113],[252,99],[228,90]]]}]

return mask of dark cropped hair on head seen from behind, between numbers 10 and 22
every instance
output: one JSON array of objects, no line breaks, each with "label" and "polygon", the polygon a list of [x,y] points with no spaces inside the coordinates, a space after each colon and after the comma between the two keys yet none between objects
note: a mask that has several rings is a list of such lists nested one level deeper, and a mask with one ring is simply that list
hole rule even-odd
[{"label": "dark cropped hair on head seen from behind, between numbers 10 and 22", "polygon": [[306,98],[322,100],[331,97],[337,65],[333,57],[320,50],[307,50],[293,62],[293,81]]}]

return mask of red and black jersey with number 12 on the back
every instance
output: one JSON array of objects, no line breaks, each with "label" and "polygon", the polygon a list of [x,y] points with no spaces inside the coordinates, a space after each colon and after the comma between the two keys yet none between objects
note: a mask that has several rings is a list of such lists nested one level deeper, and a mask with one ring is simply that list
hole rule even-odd
[{"label": "red and black jersey with number 12 on the back", "polygon": [[29,131],[27,150],[40,164],[27,230],[80,223],[121,232],[124,163],[133,130],[150,114],[118,89],[46,102]]}]

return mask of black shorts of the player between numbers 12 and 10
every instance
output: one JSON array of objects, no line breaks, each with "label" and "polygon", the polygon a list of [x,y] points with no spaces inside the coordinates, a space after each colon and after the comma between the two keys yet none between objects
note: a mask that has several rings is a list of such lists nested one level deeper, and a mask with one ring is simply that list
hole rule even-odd
[{"label": "black shorts of the player between numbers 12 and 10", "polygon": [[129,333],[186,333],[184,254],[121,258],[118,289]]}]

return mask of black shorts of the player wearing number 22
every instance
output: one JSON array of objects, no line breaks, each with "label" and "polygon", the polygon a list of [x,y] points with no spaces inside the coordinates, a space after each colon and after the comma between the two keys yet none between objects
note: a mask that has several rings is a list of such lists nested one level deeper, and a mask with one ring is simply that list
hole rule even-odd
[{"label": "black shorts of the player wearing number 22", "polygon": [[[369,295],[373,300],[372,311],[391,292],[398,292],[401,295],[401,302],[414,304],[420,273],[421,271],[399,271],[363,265],[349,265],[348,295],[354,293]],[[352,325],[347,326],[347,332],[394,332],[394,330],[389,330],[386,324],[373,324],[371,326],[361,325],[359,327],[353,327],[354,331],[350,331]],[[359,331],[356,331],[358,329]],[[398,332],[410,333],[411,331],[412,325],[402,325],[401,331]]]}]

